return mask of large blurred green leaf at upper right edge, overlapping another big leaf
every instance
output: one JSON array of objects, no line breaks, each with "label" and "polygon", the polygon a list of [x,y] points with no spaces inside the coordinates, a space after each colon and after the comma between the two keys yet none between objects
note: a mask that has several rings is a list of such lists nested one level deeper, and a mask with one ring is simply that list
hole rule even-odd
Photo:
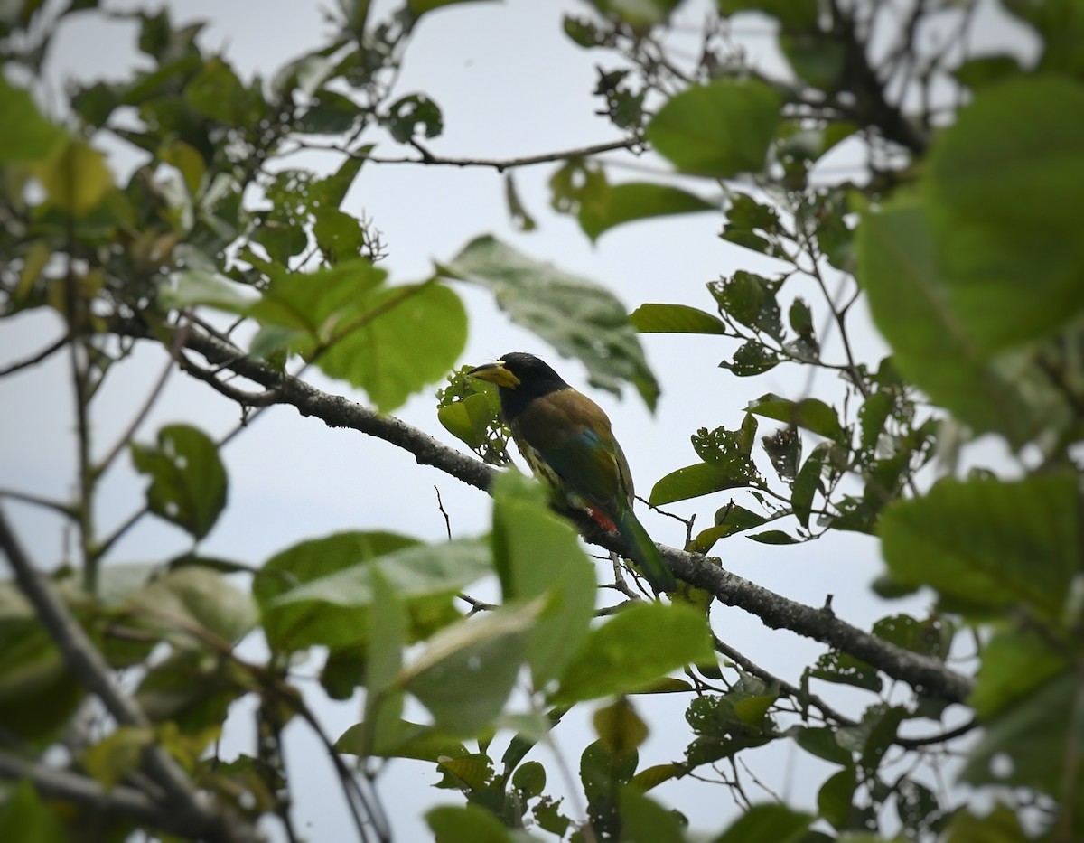
[{"label": "large blurred green leaf at upper right edge, overlapping another big leaf", "polygon": [[1081,114],[1084,85],[1014,79],[980,91],[930,152],[924,184],[939,275],[985,352],[1084,315]]}]

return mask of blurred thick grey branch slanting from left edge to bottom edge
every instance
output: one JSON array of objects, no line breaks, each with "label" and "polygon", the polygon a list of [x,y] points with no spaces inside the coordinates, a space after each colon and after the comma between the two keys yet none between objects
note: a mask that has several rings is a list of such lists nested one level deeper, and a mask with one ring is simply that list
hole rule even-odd
[{"label": "blurred thick grey branch slanting from left edge to bottom edge", "polygon": [[[96,695],[116,718],[127,726],[150,726],[151,722],[136,702],[113,682],[112,671],[101,652],[68,612],[50,584],[35,570],[22,545],[15,537],[8,518],[0,509],[0,548],[11,565],[15,581],[27,599],[37,609],[38,618],[49,631],[73,675]],[[184,815],[198,836],[210,841],[241,841],[253,838],[251,829],[241,823],[228,822],[216,804],[195,791],[172,757],[159,745],[152,744],[143,754],[147,774],[165,791],[163,810]]]}]

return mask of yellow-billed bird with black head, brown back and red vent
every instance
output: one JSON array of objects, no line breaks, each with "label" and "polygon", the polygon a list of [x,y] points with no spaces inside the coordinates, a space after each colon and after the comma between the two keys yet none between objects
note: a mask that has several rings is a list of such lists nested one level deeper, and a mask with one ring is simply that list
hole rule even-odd
[{"label": "yellow-billed bird with black head, brown back and red vent", "polygon": [[632,511],[629,463],[603,408],[547,363],[521,351],[467,374],[496,386],[501,416],[534,475],[620,535],[627,557],[656,592],[676,588],[673,572]]}]

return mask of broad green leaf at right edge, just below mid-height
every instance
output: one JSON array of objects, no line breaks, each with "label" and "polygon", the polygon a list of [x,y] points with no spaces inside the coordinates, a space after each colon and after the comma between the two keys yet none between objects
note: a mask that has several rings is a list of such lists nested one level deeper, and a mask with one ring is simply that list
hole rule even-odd
[{"label": "broad green leaf at right edge, just below mid-height", "polygon": [[1057,628],[1082,553],[1077,494],[1072,471],[1018,482],[942,480],[881,513],[889,572],[970,606],[1022,605]]}]

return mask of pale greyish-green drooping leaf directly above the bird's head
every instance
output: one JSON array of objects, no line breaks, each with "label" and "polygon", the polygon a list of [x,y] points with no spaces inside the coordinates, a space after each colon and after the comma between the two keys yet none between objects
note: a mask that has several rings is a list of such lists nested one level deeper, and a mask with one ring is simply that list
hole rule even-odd
[{"label": "pale greyish-green drooping leaf directly above the bird's head", "polygon": [[521,255],[492,236],[464,247],[441,272],[488,287],[513,322],[588,367],[592,386],[614,394],[636,387],[651,408],[659,386],[647,367],[628,311],[611,293]]}]

